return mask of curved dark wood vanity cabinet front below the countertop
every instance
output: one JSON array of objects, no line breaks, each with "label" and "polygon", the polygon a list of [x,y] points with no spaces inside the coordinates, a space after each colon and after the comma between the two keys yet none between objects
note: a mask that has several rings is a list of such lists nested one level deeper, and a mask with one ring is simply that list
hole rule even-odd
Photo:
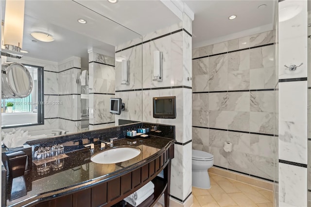
[{"label": "curved dark wood vanity cabinet front below the countertop", "polygon": [[[35,207],[110,207],[132,194],[149,181],[155,184],[155,192],[138,207],[153,206],[161,195],[165,196],[165,207],[169,206],[171,160],[174,157],[174,145],[145,165],[129,171],[119,177],[78,192],[57,197],[36,204]],[[157,174],[163,170],[164,178]],[[131,205],[127,204],[127,207]]]}]

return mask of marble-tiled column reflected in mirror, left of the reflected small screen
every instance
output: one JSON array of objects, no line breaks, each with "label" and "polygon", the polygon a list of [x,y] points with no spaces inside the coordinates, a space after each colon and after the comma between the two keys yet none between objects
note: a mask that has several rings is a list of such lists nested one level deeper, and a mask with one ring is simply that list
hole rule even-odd
[{"label": "marble-tiled column reflected in mirror, left of the reflected small screen", "polygon": [[109,112],[110,98],[115,97],[115,59],[89,51],[89,129],[115,125]]}]

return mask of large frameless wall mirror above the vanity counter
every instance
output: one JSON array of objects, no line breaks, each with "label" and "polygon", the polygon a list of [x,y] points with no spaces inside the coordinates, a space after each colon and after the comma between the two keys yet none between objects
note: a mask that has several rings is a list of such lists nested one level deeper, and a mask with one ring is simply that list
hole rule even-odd
[{"label": "large frameless wall mirror above the vanity counter", "polygon": [[[2,99],[3,132],[22,129],[33,140],[142,121],[142,37],[85,3],[91,2],[25,1],[23,57],[1,56],[1,63],[28,66],[34,83],[43,87],[34,84],[32,95],[18,100],[20,104]],[[103,4],[109,10],[110,3]],[[2,31],[10,22],[7,12],[6,1],[1,1]],[[124,70],[127,84],[122,84]],[[122,99],[125,110],[120,115],[109,112],[110,98]]]}]

